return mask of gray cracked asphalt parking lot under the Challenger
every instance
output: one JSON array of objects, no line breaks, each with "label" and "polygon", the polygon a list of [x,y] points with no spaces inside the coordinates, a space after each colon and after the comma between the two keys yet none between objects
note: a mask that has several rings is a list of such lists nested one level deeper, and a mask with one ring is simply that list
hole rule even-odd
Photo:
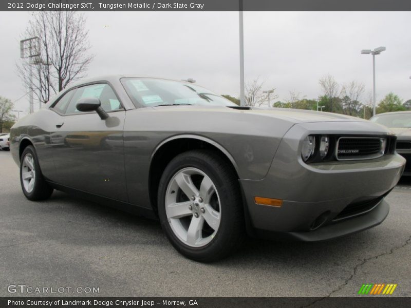
[{"label": "gray cracked asphalt parking lot under the Challenger", "polygon": [[388,218],[360,234],[246,240],[230,258],[201,264],[176,253],[156,221],[58,191],[28,201],[0,151],[0,296],[13,295],[11,284],[99,287],[94,296],[356,296],[363,283],[397,283],[394,296],[411,296],[411,179],[387,200]]}]

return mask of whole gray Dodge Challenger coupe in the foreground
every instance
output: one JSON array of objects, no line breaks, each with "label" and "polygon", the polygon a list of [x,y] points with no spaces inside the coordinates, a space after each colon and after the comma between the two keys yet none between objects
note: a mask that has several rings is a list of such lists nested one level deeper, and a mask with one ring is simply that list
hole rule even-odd
[{"label": "whole gray Dodge Challenger coupe in the foreground", "polygon": [[193,83],[108,76],[11,129],[23,194],[53,189],[159,219],[182,255],[227,256],[246,234],[321,241],[380,224],[405,160],[381,125],[242,107]]}]

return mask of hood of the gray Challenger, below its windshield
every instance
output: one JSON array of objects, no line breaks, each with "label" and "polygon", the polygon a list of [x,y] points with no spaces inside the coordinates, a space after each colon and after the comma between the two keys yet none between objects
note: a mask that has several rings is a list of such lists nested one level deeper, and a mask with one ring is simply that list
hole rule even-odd
[{"label": "hood of the gray Challenger, below its windshield", "polygon": [[360,118],[350,117],[349,115],[320,112],[302,109],[289,108],[260,108],[260,107],[242,107],[242,106],[158,106],[153,107],[156,110],[163,111],[192,111],[192,112],[228,112],[244,113],[254,116],[263,116],[286,120],[292,123],[310,123],[310,122],[330,122],[330,121],[354,121],[369,122]]}]

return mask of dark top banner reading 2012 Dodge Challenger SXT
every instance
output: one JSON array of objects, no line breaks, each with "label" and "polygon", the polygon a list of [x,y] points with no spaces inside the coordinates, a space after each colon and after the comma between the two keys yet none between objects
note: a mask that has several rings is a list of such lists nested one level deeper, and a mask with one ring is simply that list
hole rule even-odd
[{"label": "dark top banner reading 2012 Dodge Challenger SXT", "polygon": [[2,0],[1,11],[411,11],[410,0]]}]

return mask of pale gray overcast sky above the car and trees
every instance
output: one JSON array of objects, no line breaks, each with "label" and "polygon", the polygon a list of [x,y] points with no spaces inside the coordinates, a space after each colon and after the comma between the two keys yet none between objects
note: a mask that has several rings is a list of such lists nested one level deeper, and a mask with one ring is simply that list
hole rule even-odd
[{"label": "pale gray overcast sky above the car and trees", "polygon": [[[193,78],[219,94],[239,96],[238,12],[87,12],[91,52],[88,76],[143,74]],[[25,93],[15,73],[28,12],[0,12],[0,95]],[[315,99],[321,76],[372,90],[372,57],[361,49],[385,46],[377,56],[377,100],[390,91],[411,99],[410,12],[245,12],[246,80],[260,76],[279,100],[290,91]],[[103,27],[104,26],[104,27]],[[28,95],[15,108],[28,111]]]}]

